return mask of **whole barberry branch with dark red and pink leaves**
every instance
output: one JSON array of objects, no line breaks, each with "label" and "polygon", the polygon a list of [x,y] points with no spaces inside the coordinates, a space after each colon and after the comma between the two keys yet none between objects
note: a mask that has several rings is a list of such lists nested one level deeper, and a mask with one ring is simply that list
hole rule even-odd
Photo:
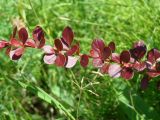
[{"label": "whole barberry branch with dark red and pink leaves", "polygon": [[[143,74],[142,89],[147,87],[149,80],[160,75],[160,51],[153,48],[147,52],[147,47],[142,40],[134,43],[131,49],[118,54],[115,52],[114,42],[106,45],[103,40],[94,39],[90,53],[82,54],[80,44],[73,44],[73,39],[74,32],[70,27],[65,27],[62,37],[56,38],[52,47],[45,44],[45,34],[40,26],[36,26],[33,30],[32,38],[29,38],[26,28],[15,27],[9,41],[0,41],[0,49],[5,48],[11,60],[20,59],[28,47],[42,49],[46,64],[65,68],[74,67],[77,61],[80,61],[83,67],[87,67],[89,59],[92,59],[93,66],[100,69],[102,74],[114,78],[121,76],[130,80],[135,72]],[[147,55],[144,59],[145,54]]]}]

